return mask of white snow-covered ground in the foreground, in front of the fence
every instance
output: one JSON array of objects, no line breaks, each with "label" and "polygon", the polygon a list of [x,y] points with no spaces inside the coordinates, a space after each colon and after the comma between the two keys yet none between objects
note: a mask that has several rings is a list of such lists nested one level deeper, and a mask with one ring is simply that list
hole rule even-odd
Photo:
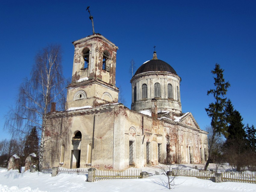
[{"label": "white snow-covered ground in the foreground, in front of the fence", "polygon": [[[148,172],[153,172],[157,168],[146,168]],[[86,182],[85,175],[60,174],[52,177],[51,174],[30,173],[26,171],[19,173],[18,170],[7,171],[0,169],[0,192],[79,192],[79,191],[123,191],[123,192],[144,192],[144,191],[169,191],[165,182],[167,177],[155,175],[143,179],[116,179],[97,182]],[[177,177],[175,179],[175,189],[177,192],[231,192],[231,191],[256,191],[256,184],[223,182],[214,183],[212,181],[193,178]]]}]

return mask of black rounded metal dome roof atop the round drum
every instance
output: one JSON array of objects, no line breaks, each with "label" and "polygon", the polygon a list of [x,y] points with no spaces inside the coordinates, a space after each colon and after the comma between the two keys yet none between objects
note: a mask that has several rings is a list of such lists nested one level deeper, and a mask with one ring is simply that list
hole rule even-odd
[{"label": "black rounded metal dome roof atop the round drum", "polygon": [[176,71],[168,63],[159,59],[151,59],[143,63],[134,75],[149,71],[166,71],[177,74]]}]

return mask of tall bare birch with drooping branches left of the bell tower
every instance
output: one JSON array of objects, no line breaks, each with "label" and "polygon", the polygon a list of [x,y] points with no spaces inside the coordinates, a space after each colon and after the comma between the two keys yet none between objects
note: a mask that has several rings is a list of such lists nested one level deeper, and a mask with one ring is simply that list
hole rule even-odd
[{"label": "tall bare birch with drooping branches left of the bell tower", "polygon": [[23,135],[23,138],[36,127],[40,140],[39,170],[42,169],[47,142],[46,125],[54,115],[50,113],[51,104],[53,111],[64,110],[66,85],[67,80],[62,75],[60,45],[43,48],[35,57],[31,79],[25,79],[20,86],[17,105],[9,111],[5,121],[5,129],[14,136]]}]

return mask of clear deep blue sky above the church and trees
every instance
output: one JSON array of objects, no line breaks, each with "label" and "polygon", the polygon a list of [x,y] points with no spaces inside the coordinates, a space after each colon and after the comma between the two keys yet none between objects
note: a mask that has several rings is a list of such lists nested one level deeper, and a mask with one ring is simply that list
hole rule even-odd
[{"label": "clear deep blue sky above the church and trees", "polygon": [[34,57],[49,44],[63,48],[63,69],[71,77],[72,42],[95,32],[118,46],[116,85],[131,104],[133,59],[137,68],[153,57],[169,63],[182,78],[182,111],[201,129],[210,125],[204,108],[213,100],[215,63],[224,69],[227,92],[243,123],[256,125],[256,1],[4,1],[0,2],[0,140],[5,115],[18,88],[30,77]]}]

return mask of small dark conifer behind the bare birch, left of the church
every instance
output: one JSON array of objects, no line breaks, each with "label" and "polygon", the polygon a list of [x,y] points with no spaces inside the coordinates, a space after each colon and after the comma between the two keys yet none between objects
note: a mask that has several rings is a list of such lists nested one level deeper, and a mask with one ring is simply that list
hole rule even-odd
[{"label": "small dark conifer behind the bare birch, left of the church", "polygon": [[24,155],[25,158],[29,156],[31,153],[35,153],[38,155],[38,150],[39,150],[39,139],[38,135],[36,132],[36,126],[31,129],[30,134],[27,136],[26,142],[25,142],[25,147],[24,147]]}]

